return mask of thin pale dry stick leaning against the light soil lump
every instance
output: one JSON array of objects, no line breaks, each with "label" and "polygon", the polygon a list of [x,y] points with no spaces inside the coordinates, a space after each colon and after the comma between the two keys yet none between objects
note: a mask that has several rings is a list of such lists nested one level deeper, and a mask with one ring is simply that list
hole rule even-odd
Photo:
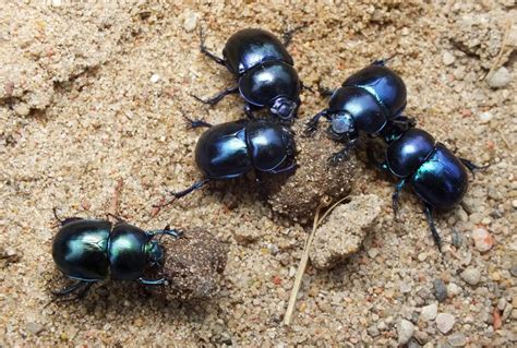
[{"label": "thin pale dry stick leaning against the light soil lump", "polygon": [[309,262],[309,250],[311,248],[311,244],[312,244],[312,240],[314,239],[314,233],[316,232],[316,228],[321,225],[321,223],[327,217],[327,215],[339,204],[341,203],[342,201],[345,201],[348,196],[337,201],[333,206],[330,206],[326,212],[325,214],[322,216],[322,218],[320,218],[320,212],[323,207],[327,206],[328,203],[327,202],[322,202],[320,204],[320,206],[316,208],[316,213],[314,214],[314,223],[312,224],[312,231],[311,233],[308,236],[308,238],[305,239],[305,245],[304,245],[304,249],[303,249],[303,254],[302,254],[302,257],[300,260],[300,264],[298,265],[298,269],[297,269],[297,275],[294,277],[294,284],[292,286],[292,290],[291,290],[291,296],[289,298],[289,303],[287,305],[287,311],[286,311],[286,315],[284,316],[284,325],[290,325],[291,323],[291,317],[292,317],[292,313],[294,313],[294,305],[297,303],[297,297],[298,297],[298,292],[300,291],[300,287],[301,287],[301,280],[303,278],[303,274],[305,273],[305,268],[306,268],[306,264]]}]

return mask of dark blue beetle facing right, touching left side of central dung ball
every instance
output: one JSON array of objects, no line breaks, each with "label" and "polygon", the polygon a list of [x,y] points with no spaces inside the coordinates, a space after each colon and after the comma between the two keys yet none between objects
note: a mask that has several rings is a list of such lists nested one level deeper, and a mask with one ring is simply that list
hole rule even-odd
[{"label": "dark blue beetle facing right, touching left side of central dung ball", "polygon": [[171,204],[212,180],[239,178],[253,169],[260,180],[262,172],[276,175],[296,168],[292,133],[273,120],[244,119],[212,125],[185,119],[191,129],[208,128],[195,146],[195,164],[203,179],[183,191],[170,192],[173,199],[156,207]]}]

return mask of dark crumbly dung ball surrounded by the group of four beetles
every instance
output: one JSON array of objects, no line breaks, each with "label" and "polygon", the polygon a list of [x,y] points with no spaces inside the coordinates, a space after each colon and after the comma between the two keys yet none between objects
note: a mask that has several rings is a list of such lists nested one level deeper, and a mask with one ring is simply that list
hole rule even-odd
[{"label": "dark crumbly dung ball surrounded by the group of four beetles", "polygon": [[[326,134],[321,122],[320,130],[313,136],[303,136],[303,122],[297,122],[297,163],[300,165],[292,175],[279,176],[268,180],[268,203],[273,211],[289,216],[294,221],[312,221],[314,212],[324,199],[337,201],[351,190],[351,178],[357,166],[353,151],[336,166],[330,165],[329,157],[342,148]],[[276,176],[278,177],[278,176]]]}]

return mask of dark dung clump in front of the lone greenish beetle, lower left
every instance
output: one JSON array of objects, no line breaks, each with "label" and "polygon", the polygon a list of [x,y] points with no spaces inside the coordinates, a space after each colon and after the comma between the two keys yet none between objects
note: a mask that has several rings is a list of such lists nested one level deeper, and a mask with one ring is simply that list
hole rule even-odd
[{"label": "dark dung clump in front of the lone greenish beetle, lower left", "polygon": [[176,240],[164,239],[161,244],[166,256],[159,274],[168,284],[149,287],[151,292],[167,300],[209,299],[217,293],[228,259],[223,242],[203,229],[194,229]]}]

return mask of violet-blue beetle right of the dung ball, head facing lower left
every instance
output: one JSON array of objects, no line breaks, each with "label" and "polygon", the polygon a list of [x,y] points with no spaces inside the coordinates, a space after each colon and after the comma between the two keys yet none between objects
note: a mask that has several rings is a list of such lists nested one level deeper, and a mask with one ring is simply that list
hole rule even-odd
[{"label": "violet-blue beetle right of the dung ball, head facing lower left", "polygon": [[382,135],[389,129],[399,131],[414,127],[411,119],[401,116],[406,107],[406,85],[400,76],[385,67],[386,60],[377,60],[348,77],[342,86],[322,89],[322,95],[332,96],[328,108],[316,113],[306,124],[305,135],[312,135],[320,118],[325,117],[330,125],[330,136],[346,146],[330,157],[332,164],[342,160],[357,145],[359,131],[369,135]]}]

